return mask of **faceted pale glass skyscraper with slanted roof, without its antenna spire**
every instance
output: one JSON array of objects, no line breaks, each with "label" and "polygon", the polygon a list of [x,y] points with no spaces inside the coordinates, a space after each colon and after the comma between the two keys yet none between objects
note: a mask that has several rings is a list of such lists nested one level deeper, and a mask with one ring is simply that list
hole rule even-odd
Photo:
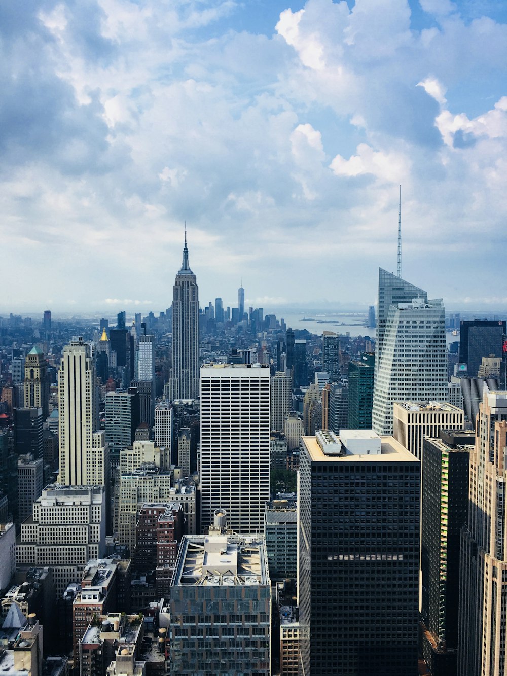
[{"label": "faceted pale glass skyscraper with slanted roof, without its antenna spire", "polygon": [[391,435],[394,402],[445,402],[448,395],[443,301],[380,270],[378,321],[372,428]]}]

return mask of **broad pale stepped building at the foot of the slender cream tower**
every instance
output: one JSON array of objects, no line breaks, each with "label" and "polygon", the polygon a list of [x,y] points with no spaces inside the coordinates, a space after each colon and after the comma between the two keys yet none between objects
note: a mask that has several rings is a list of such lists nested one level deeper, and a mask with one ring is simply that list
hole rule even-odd
[{"label": "broad pale stepped building at the foot of the slender cream tower", "polygon": [[105,553],[103,486],[47,486],[21,525],[18,566],[51,566],[57,597]]}]

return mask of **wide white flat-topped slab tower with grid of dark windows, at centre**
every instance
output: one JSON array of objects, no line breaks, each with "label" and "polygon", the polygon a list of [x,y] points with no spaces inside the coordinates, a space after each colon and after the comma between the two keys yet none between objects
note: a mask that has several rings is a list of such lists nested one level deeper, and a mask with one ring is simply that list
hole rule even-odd
[{"label": "wide white flat-topped slab tower with grid of dark windows, at centre", "polygon": [[270,370],[201,368],[201,529],[223,508],[233,531],[262,533],[269,500]]}]

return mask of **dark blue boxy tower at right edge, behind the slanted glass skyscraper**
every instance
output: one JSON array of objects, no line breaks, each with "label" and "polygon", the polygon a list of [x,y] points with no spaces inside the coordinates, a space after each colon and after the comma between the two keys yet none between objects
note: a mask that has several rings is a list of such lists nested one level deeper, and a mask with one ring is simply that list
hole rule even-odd
[{"label": "dark blue boxy tower at right edge, behind the slanted glass skyscraper", "polygon": [[505,320],[460,321],[460,351],[458,360],[466,364],[466,375],[477,377],[483,357],[502,357],[507,331]]}]

